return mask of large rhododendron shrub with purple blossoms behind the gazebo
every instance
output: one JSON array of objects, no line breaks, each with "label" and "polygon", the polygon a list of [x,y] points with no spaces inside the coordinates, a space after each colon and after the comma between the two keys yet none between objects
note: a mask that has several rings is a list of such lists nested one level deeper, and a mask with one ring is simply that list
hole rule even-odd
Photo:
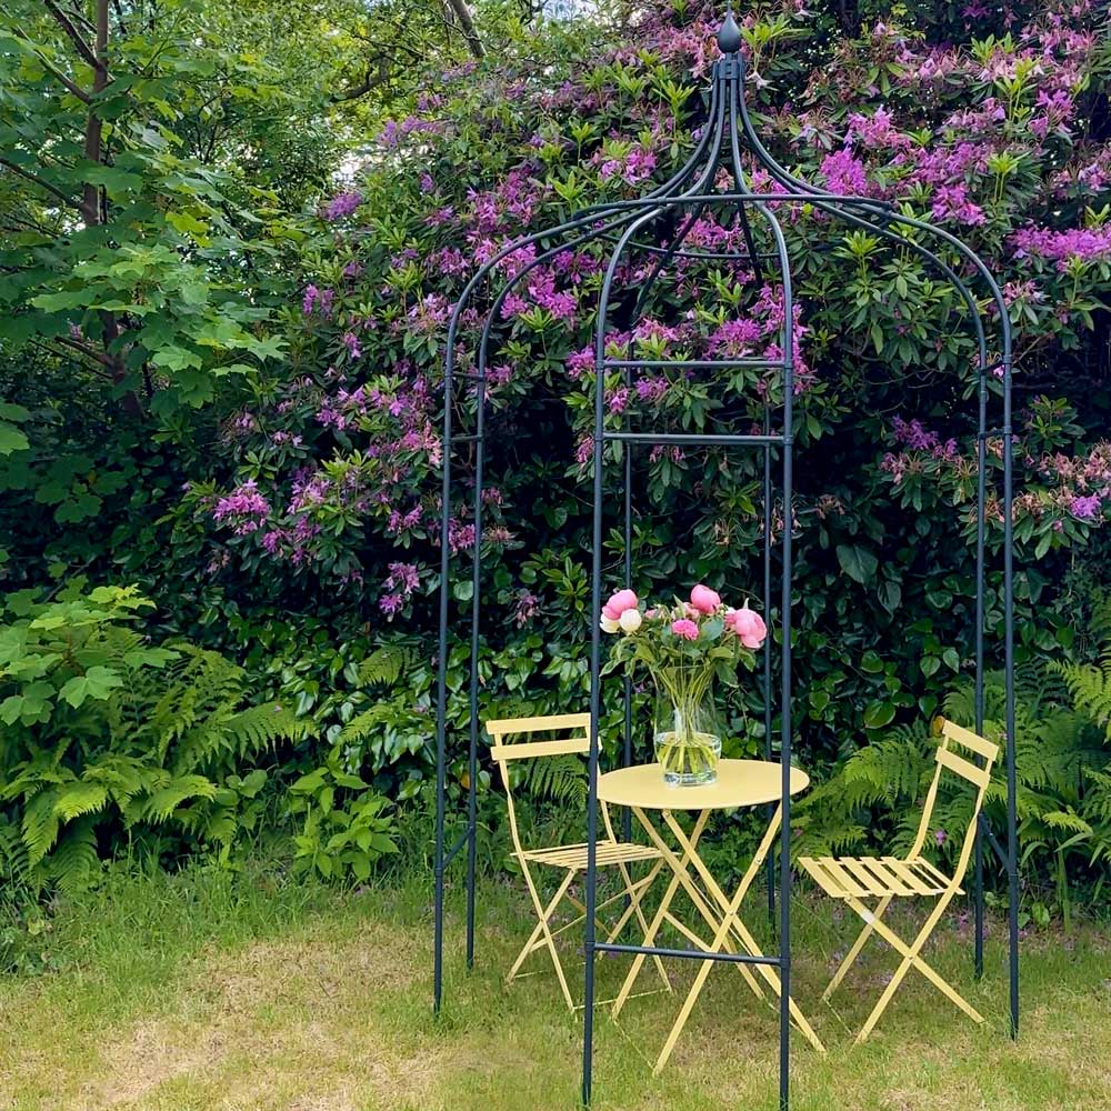
[{"label": "large rhododendron shrub with purple blossoms behind the gazebo", "polygon": [[[750,100],[784,162],[964,237],[999,276],[1017,339],[1020,658],[1065,643],[1070,608],[1047,609],[1047,584],[1070,567],[1098,575],[1098,559],[1075,560],[1107,544],[1100,337],[1111,288],[1111,51],[1101,10],[1092,0],[1037,11],[968,6],[955,17],[930,8],[899,23],[890,6],[872,4],[875,18],[857,38],[794,3],[751,6],[742,20]],[[372,137],[358,188],[317,209],[301,293],[287,310],[288,372],[252,380],[237,398],[218,460],[184,493],[180,540],[204,546],[216,582],[273,605],[334,597],[344,620],[372,629],[432,628],[451,306],[474,268],[516,237],[673,172],[705,119],[714,30],[711,6],[698,3],[651,9],[617,46],[552,29],[529,57],[444,73],[434,93]],[[755,186],[769,184],[752,170]],[[755,595],[765,531],[778,540],[790,528],[797,689],[809,743],[834,753],[861,725],[931,714],[967,668],[975,342],[959,294],[898,239],[807,208],[777,212],[799,293],[795,499],[761,508],[757,454],[633,449],[634,583],[651,591],[679,569]],[[663,241],[672,234],[661,229]],[[721,212],[703,213],[685,240],[691,253],[742,243]],[[975,283],[958,256],[932,246]],[[497,282],[520,274],[537,250],[502,259]],[[569,242],[510,291],[492,324],[483,635],[501,652],[514,637],[540,634],[546,652],[510,688],[538,699],[583,681],[568,661],[581,658],[591,620],[591,336],[608,250]],[[633,250],[622,263],[611,354],[774,358],[782,291],[743,250],[732,261],[677,259],[633,319],[651,261]],[[464,376],[476,370],[494,293],[480,291],[462,317]],[[751,431],[764,402],[781,401],[782,382],[749,368],[613,371],[604,396],[614,429]],[[463,431],[474,400],[464,378],[451,402]],[[994,382],[990,404],[998,426]],[[614,498],[619,447],[607,446]],[[454,595],[466,603],[476,457],[470,443],[454,452],[448,540]],[[998,432],[988,457],[994,628]],[[607,559],[617,559],[621,540],[607,543]],[[744,698],[759,703],[754,691]]]}]

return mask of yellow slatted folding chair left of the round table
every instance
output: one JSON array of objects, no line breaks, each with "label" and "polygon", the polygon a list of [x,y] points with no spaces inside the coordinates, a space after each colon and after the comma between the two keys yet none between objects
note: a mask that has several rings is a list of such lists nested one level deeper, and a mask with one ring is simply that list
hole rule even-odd
[{"label": "yellow slatted folding chair left of the round table", "polygon": [[[571,893],[571,884],[577,875],[587,869],[587,844],[564,844],[553,845],[547,849],[526,849],[521,844],[520,832],[517,825],[517,811],[513,807],[513,790],[510,777],[510,763],[514,760],[536,760],[544,757],[565,755],[568,753],[584,755],[590,749],[590,714],[589,713],[561,713],[546,718],[503,718],[497,721],[487,721],[486,730],[490,734],[491,754],[501,769],[502,782],[506,784],[506,803],[509,811],[509,829],[513,838],[513,855],[521,865],[524,882],[528,885],[529,894],[532,898],[532,905],[537,912],[537,927],[532,935],[524,943],[524,948],[518,954],[513,967],[506,977],[507,981],[512,981],[518,975],[531,975],[530,972],[521,972],[521,965],[538,949],[547,948],[551,955],[556,975],[559,979],[560,988],[567,1005],[577,1010],[582,1004],[575,1004],[571,989],[568,988],[567,977],[563,974],[563,967],[560,963],[559,953],[556,949],[556,938],[585,920],[587,908]],[[532,740],[536,733],[571,733],[570,737],[560,737],[550,740]],[[507,741],[507,738],[524,738],[523,740]],[[610,822],[609,810],[605,804],[601,807],[602,821],[604,822],[605,837],[597,842],[595,857],[598,868],[617,868],[621,875],[622,890],[610,899],[597,904],[597,910],[602,910],[610,903],[619,899],[628,900],[622,913],[614,925],[607,933],[605,929],[595,919],[600,934],[605,935],[605,940],[614,941],[624,929],[630,918],[635,915],[640,923],[642,935],[648,933],[648,923],[641,910],[641,899],[652,881],[663,868],[662,853],[649,845],[622,842],[613,835],[613,827]],[[630,864],[651,861],[652,867],[648,874],[637,880],[632,880],[629,871]],[[556,868],[563,871],[563,877],[556,888],[556,893],[544,902],[540,897],[540,887],[533,875],[533,867],[542,865]],[[552,918],[562,902],[569,902],[579,914],[570,922],[565,922],[558,929],[552,928]],[[663,969],[662,961],[654,958],[657,970],[663,981],[665,990],[671,990],[668,974]]]}]

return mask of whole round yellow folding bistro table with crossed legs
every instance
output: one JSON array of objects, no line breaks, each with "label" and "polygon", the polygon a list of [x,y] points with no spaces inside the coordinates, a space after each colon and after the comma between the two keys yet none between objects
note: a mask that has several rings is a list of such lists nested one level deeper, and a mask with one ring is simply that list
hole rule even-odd
[{"label": "whole round yellow folding bistro table with crossed legs", "polygon": [[[798,768],[791,769],[791,794],[804,791],[810,783],[810,777]],[[651,947],[655,942],[655,935],[664,922],[677,929],[683,937],[693,942],[698,949],[709,953],[718,953],[725,950],[730,953],[747,953],[750,957],[762,957],[760,948],[751,931],[744,925],[741,919],[741,903],[744,900],[752,881],[760,872],[760,867],[768,858],[775,835],[782,823],[783,808],[780,803],[775,808],[768,832],[764,833],[752,862],[749,864],[740,885],[729,898],[721,885],[713,878],[713,873],[707,868],[701,857],[698,854],[698,842],[702,835],[705,823],[714,810],[735,810],[740,807],[759,807],[770,802],[780,802],[782,789],[782,768],[778,763],[765,760],[722,760],[718,764],[718,779],[714,783],[704,787],[669,787],[663,782],[663,770],[658,763],[639,764],[632,768],[621,768],[618,771],[608,772],[598,779],[599,801],[615,807],[628,807],[635,815],[637,820],[644,828],[652,844],[654,844],[663,855],[664,861],[671,869],[671,881],[664,892],[655,915],[648,927],[643,944]],[[698,814],[694,820],[694,828],[690,834],[683,831],[675,819],[675,812],[680,810],[691,811]],[[663,818],[664,824],[674,838],[678,851],[673,849],[657,829],[649,813],[659,813]],[[701,887],[691,875],[691,870],[697,873],[701,881]],[[683,922],[671,911],[671,904],[679,892],[685,892],[698,913],[705,921],[712,931],[713,940],[709,943],[703,940],[689,923]],[[621,1012],[629,993],[632,991],[637,977],[644,964],[644,954],[638,953],[633,960],[632,968],[625,977],[621,991],[613,1003],[614,1018]],[[713,961],[702,961],[699,964],[694,983],[683,1002],[671,1033],[664,1042],[660,1057],[655,1062],[654,1072],[659,1072],[668,1062],[671,1051],[674,1049],[679,1034],[682,1032],[690,1017],[691,1010],[698,1000],[699,994],[705,984],[705,979],[713,967]],[[768,964],[737,964],[745,982],[758,999],[764,999],[763,989],[752,969],[763,978],[768,987],[780,994],[780,979],[778,971]],[[807,1040],[820,1053],[825,1049],[819,1041],[818,1035],[811,1029],[802,1012],[798,1009],[794,1000],[790,1000],[791,1018]]]}]

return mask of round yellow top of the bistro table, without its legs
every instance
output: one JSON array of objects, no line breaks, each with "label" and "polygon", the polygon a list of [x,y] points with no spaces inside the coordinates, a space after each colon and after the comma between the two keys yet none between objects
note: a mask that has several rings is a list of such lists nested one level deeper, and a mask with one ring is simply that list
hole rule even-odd
[{"label": "round yellow top of the bistro table, without its legs", "polygon": [[[637,764],[599,775],[598,798],[642,810],[732,810],[779,802],[782,782],[782,765],[768,760],[721,760],[717,781],[702,787],[671,787],[658,763]],[[804,771],[791,769],[791,794],[809,783]]]}]

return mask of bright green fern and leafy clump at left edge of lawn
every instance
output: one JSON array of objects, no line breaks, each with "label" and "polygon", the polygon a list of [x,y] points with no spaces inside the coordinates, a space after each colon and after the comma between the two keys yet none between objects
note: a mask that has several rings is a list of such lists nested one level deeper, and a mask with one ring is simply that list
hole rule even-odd
[{"label": "bright green fern and leafy clump at left edge of lawn", "polygon": [[267,773],[252,762],[306,733],[277,702],[244,707],[246,673],[219,653],[151,645],[133,623],[152,607],[134,587],[80,580],[3,601],[0,817],[34,889],[88,883],[101,845],[124,838],[227,859],[261,815]]}]

